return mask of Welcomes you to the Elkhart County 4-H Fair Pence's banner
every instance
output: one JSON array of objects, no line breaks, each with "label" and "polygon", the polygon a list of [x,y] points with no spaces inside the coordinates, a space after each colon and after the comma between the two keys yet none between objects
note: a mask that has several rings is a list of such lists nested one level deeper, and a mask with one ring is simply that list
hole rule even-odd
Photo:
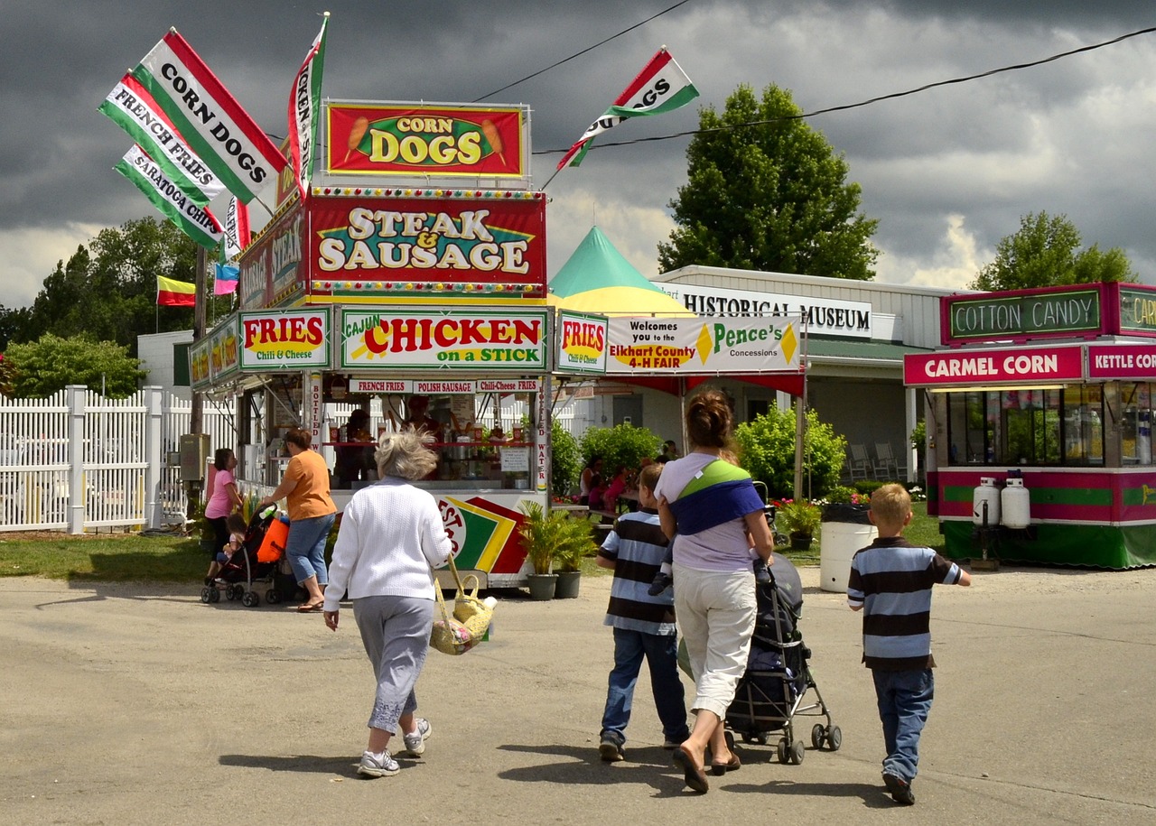
[{"label": "Welcomes you to the Elkhart County 4-H Fair Pence's banner", "polygon": [[607,374],[796,373],[799,317],[612,318]]}]

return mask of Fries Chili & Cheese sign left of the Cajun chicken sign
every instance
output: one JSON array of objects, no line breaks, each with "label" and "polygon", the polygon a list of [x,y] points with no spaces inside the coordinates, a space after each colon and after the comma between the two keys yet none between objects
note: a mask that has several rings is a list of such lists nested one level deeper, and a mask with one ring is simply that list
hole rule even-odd
[{"label": "Fries Chili & Cheese sign left of the Cajun chicken sign", "polygon": [[328,367],[329,312],[242,313],[240,342],[242,370]]}]

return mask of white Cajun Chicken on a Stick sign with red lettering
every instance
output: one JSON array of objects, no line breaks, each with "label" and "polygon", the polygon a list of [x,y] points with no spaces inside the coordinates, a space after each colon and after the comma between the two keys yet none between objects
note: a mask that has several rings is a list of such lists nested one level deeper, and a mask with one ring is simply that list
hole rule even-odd
[{"label": "white Cajun Chicken on a Stick sign with red lettering", "polygon": [[542,310],[341,313],[341,367],[547,371]]}]

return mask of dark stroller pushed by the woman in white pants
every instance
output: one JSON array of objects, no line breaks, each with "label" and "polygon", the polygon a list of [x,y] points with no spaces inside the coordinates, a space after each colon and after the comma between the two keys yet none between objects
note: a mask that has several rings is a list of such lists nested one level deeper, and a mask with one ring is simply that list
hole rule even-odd
[{"label": "dark stroller pushed by the woman in white pants", "polygon": [[[831,714],[815,684],[807,661],[810,650],[799,632],[802,611],[802,582],[791,560],[772,555],[771,580],[756,586],[755,634],[750,641],[747,671],[739,680],[734,700],[726,712],[728,734],[743,743],[766,745],[769,735],[781,731],[777,756],[779,762],[798,766],[803,759],[803,742],[795,739],[795,717],[823,716],[827,724],[815,723],[810,744],[827,745],[838,751],[843,732],[831,722]],[[814,690],[815,702],[807,702]]]}]

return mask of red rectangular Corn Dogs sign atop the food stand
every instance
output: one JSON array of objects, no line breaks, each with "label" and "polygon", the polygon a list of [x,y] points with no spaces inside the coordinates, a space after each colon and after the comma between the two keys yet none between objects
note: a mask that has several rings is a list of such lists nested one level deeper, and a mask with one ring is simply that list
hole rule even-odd
[{"label": "red rectangular Corn Dogs sign atop the food stand", "polygon": [[326,169],[520,178],[526,174],[527,122],[520,106],[331,103]]}]

